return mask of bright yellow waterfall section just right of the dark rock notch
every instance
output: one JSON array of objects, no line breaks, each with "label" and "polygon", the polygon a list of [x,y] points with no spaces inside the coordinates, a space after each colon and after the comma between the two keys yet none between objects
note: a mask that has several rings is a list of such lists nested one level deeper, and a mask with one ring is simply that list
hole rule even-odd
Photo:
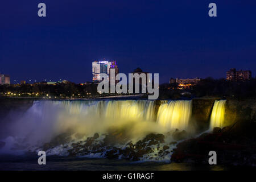
[{"label": "bright yellow waterfall section just right of the dark rock notch", "polygon": [[192,112],[192,101],[170,101],[158,110],[157,122],[167,129],[185,130]]}]

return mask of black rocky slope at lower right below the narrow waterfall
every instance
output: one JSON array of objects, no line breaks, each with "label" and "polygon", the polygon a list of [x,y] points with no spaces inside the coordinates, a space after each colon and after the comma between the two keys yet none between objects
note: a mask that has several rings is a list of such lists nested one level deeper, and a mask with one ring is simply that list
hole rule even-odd
[{"label": "black rocky slope at lower right below the narrow waterfall", "polygon": [[209,151],[216,151],[217,164],[256,166],[256,123],[239,123],[223,129],[214,128],[199,138],[177,144],[172,162],[207,163]]}]

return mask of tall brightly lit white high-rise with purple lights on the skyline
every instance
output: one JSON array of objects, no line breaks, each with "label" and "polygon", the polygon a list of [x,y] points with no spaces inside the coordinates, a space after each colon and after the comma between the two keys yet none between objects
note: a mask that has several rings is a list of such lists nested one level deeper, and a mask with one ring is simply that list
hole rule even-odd
[{"label": "tall brightly lit white high-rise with purple lights on the skyline", "polygon": [[[109,76],[110,66],[117,67],[117,61],[109,61],[105,59],[100,61],[93,61],[92,62],[93,82],[102,81],[101,80],[102,73],[106,73]],[[108,81],[109,81],[109,77],[108,77]]]}]

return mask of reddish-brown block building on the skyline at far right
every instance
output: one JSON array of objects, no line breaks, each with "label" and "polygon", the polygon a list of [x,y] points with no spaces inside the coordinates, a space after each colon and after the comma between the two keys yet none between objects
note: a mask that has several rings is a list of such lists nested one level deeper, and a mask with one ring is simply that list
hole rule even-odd
[{"label": "reddish-brown block building on the skyline at far right", "polygon": [[237,71],[236,68],[230,69],[226,72],[226,80],[229,81],[245,81],[251,79],[251,71]]}]

